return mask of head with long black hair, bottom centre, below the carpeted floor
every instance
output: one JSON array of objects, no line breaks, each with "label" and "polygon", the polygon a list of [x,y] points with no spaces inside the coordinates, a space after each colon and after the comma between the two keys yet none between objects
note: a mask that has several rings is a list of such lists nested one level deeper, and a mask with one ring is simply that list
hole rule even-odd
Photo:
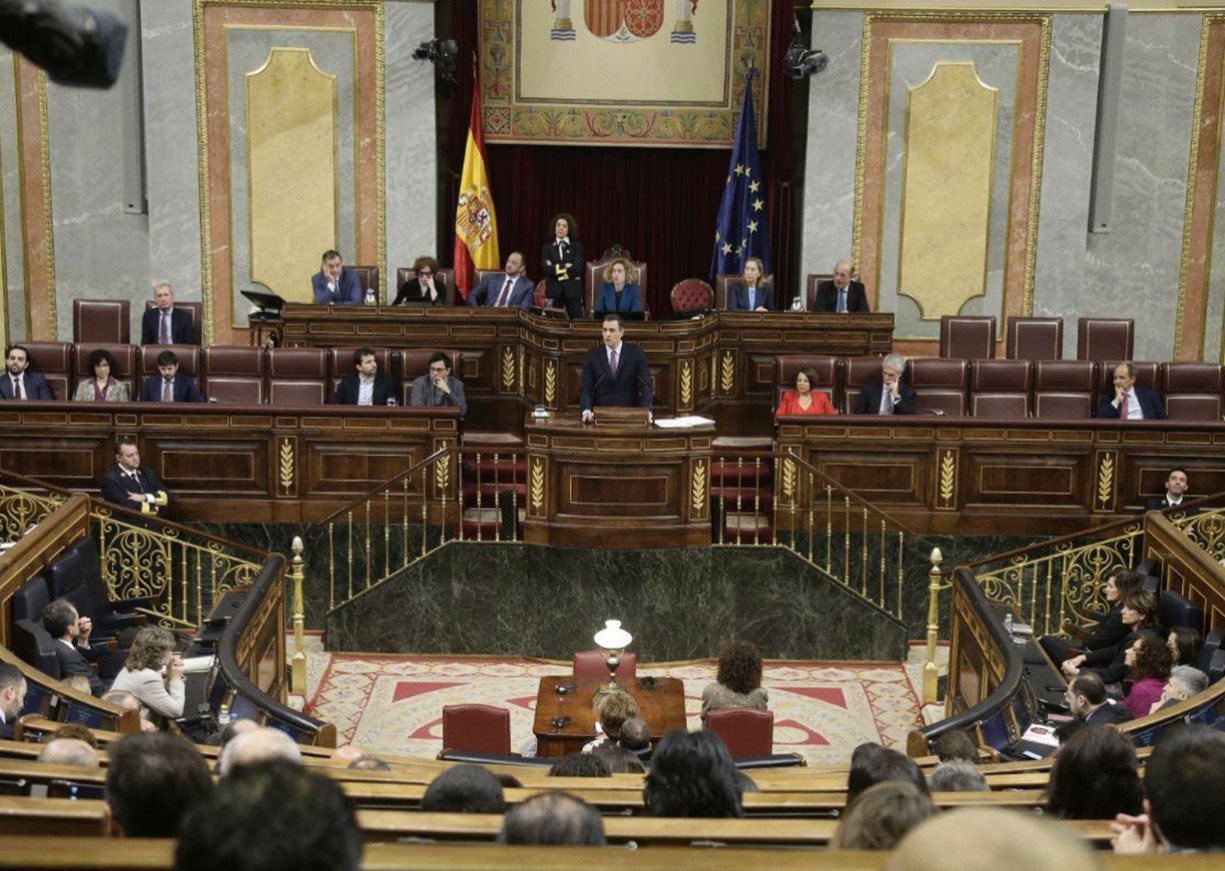
[{"label": "head with long black hair, bottom centre, below the carpeted floor", "polygon": [[674,729],[650,757],[642,790],[653,817],[739,817],[740,784],[728,745],[713,731]]}]

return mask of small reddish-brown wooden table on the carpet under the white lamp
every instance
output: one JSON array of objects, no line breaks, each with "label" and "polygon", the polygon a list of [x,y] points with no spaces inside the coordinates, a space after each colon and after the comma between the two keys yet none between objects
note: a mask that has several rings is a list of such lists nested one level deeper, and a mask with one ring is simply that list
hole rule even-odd
[{"label": "small reddish-brown wooden table on the carpet under the white lamp", "polygon": [[[578,688],[565,695],[557,692],[562,684],[577,684]],[[571,677],[550,675],[540,679],[537,695],[537,715],[532,731],[537,736],[537,756],[561,757],[583,748],[595,737],[595,712],[592,699],[595,691],[608,684],[603,677]],[[650,726],[653,740],[673,729],[685,728],[685,682],[679,677],[657,677],[654,686],[644,686],[642,680],[617,681],[622,690],[633,696],[642,718]],[[554,717],[570,717],[570,725],[556,728]]]}]

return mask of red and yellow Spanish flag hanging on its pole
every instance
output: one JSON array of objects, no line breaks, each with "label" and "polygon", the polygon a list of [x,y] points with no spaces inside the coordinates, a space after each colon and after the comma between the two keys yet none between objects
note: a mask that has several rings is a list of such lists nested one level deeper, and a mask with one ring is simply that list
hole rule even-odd
[{"label": "red and yellow Spanish flag hanging on its pole", "polygon": [[468,146],[459,175],[459,201],[456,206],[456,287],[468,299],[475,285],[473,270],[496,270],[502,265],[497,254],[497,213],[494,192],[489,189],[485,165],[485,135],[480,126],[480,80],[472,86],[472,119],[468,121]]}]

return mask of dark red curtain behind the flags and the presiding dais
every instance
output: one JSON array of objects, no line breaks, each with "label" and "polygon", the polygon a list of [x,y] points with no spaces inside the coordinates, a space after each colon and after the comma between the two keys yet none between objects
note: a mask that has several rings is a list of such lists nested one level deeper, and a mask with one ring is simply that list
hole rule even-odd
[{"label": "dark red curtain behind the flags and the presiding dais", "polygon": [[[472,62],[477,45],[475,2],[453,4],[453,38],[461,62],[448,119],[446,153],[453,176],[463,162],[468,114],[472,105]],[[793,12],[786,4],[771,4],[769,148],[762,152],[771,181],[771,212],[790,208],[789,194],[778,197],[775,175],[795,170],[790,80],[779,75]],[[782,36],[780,36],[782,34]],[[779,44],[782,42],[782,44]],[[760,111],[760,108],[758,108]],[[497,208],[499,246],[527,255],[528,274],[540,277],[540,246],[551,232],[549,219],[571,212],[578,219],[587,257],[621,245],[635,258],[650,265],[648,299],[655,315],[666,314],[673,285],[684,278],[708,279],[714,245],[714,221],[728,174],[729,148],[604,148],[595,146],[516,146],[489,143],[489,174]],[[775,163],[779,164],[775,168]],[[450,251],[454,194],[445,194],[440,251]],[[775,218],[778,221],[778,218]],[[782,234],[790,235],[790,216],[771,228],[775,283],[793,288]],[[793,288],[794,290],[794,288]]]}]

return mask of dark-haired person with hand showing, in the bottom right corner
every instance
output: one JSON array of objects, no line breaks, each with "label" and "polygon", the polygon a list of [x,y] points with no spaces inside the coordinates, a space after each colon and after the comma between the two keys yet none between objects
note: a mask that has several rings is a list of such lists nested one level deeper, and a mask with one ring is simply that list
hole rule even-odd
[{"label": "dark-haired person with hand showing, in the bottom right corner", "polygon": [[1144,812],[1111,826],[1115,853],[1225,850],[1225,733],[1166,729],[1144,766]]}]

